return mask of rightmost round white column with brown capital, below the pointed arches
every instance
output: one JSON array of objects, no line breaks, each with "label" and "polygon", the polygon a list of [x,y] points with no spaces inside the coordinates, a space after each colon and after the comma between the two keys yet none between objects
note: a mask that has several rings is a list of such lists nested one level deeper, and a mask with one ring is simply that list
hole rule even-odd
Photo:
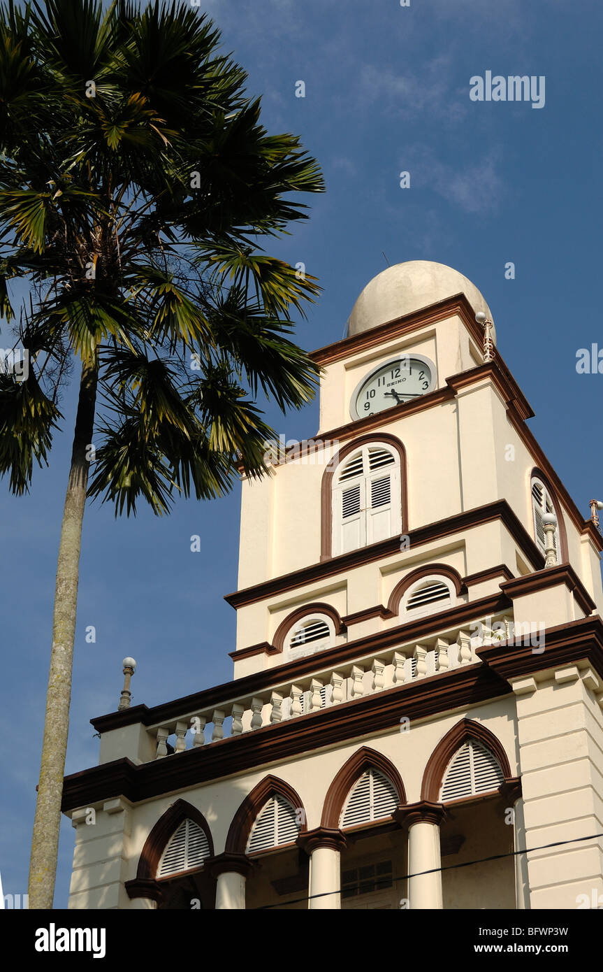
[{"label": "rightmost round white column with brown capital, below the pointed arches", "polygon": [[[414,911],[441,909],[440,823],[444,819],[444,808],[441,804],[423,801],[404,808],[403,813],[409,826],[409,908]],[[429,873],[422,873],[425,871]]]}]

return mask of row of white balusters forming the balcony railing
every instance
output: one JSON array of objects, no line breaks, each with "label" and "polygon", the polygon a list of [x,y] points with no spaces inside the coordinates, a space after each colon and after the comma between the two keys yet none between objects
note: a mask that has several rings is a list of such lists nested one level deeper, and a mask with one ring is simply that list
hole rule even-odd
[{"label": "row of white balusters forming the balcony railing", "polygon": [[480,638],[458,630],[448,633],[448,638],[387,648],[376,656],[326,669],[320,669],[317,655],[317,671],[312,676],[277,683],[257,695],[227,699],[211,709],[183,712],[178,719],[149,726],[148,732],[156,740],[155,758],[208,746],[285,719],[360,700],[386,688],[480,663],[476,648],[492,642],[495,639],[487,629]]}]

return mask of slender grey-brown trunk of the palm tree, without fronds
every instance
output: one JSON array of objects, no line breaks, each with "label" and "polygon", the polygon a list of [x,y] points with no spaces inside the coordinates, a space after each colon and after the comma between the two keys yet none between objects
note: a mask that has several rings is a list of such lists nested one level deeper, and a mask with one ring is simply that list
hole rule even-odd
[{"label": "slender grey-brown trunk of the palm tree, without fronds", "polygon": [[92,442],[97,380],[97,361],[84,362],[58,548],[46,721],[29,862],[29,907],[38,909],[51,908],[54,895],[89,467],[86,452]]}]

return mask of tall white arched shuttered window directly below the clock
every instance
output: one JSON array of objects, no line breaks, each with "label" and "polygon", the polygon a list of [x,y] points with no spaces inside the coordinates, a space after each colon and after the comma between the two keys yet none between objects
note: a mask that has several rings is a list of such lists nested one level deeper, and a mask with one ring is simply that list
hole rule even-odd
[{"label": "tall white arched shuttered window directly below the clock", "polygon": [[401,533],[400,496],[397,450],[373,442],[346,457],[333,477],[333,555]]}]

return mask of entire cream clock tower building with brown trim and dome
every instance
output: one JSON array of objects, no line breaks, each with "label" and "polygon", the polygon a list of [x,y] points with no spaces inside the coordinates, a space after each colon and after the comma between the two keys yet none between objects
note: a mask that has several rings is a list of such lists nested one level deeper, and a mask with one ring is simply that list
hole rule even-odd
[{"label": "entire cream clock tower building with brown trim and dome", "polygon": [[484,296],[388,267],[313,357],[318,432],[242,484],[233,679],[92,720],[70,907],[589,906],[603,541]]}]

